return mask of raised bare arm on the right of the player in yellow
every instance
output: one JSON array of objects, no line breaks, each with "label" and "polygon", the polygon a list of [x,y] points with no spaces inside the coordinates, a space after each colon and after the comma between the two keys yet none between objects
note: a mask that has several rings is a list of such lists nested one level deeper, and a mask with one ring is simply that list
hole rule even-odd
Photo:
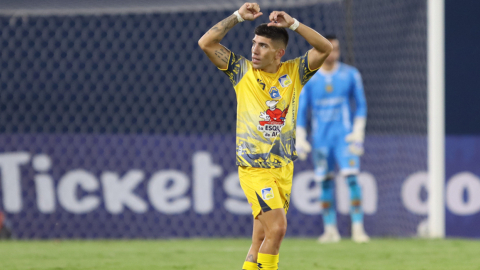
[{"label": "raised bare arm on the right of the player in yellow", "polygon": [[292,29],[291,27],[296,27],[296,29],[292,30],[299,33],[310,45],[312,45],[313,48],[308,51],[308,65],[310,70],[319,68],[332,52],[333,46],[330,41],[312,28],[303,23],[299,23],[284,11],[273,11],[269,16],[269,19],[270,23],[268,26],[288,27],[290,29]]}]

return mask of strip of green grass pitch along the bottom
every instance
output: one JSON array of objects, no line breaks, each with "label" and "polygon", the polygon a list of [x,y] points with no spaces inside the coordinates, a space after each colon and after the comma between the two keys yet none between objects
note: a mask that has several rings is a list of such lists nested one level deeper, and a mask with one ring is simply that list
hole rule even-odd
[{"label": "strip of green grass pitch along the bottom", "polygon": [[[248,239],[0,241],[0,269],[240,270]],[[280,270],[480,270],[480,241],[373,239],[321,245],[287,238]]]}]

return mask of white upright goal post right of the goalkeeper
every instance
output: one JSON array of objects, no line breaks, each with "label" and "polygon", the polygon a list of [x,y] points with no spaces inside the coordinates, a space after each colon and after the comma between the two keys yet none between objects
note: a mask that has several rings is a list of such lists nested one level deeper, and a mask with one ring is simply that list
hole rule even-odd
[{"label": "white upright goal post right of the goalkeeper", "polygon": [[445,237],[445,2],[428,0],[428,231]]}]

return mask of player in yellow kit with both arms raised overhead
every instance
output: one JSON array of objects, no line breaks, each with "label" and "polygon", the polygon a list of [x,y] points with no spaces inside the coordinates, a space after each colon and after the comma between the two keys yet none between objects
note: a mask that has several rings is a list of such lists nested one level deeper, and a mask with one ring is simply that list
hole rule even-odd
[{"label": "player in yellow kit with both arms raised overhead", "polygon": [[[237,96],[236,155],[240,184],[252,207],[252,245],[244,270],[278,269],[287,229],[292,188],[296,115],[300,91],[332,50],[330,42],[283,11],[255,29],[251,60],[220,44],[236,24],[259,18],[256,3],[245,3],[217,23],[198,44],[229,78]],[[281,62],[288,43],[285,28],[313,47],[304,56]]]}]

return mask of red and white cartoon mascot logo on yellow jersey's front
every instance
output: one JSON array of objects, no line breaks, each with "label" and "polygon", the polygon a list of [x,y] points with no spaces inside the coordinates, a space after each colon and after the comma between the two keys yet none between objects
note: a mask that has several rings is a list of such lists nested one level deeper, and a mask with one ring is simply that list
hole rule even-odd
[{"label": "red and white cartoon mascot logo on yellow jersey's front", "polygon": [[277,108],[278,100],[268,100],[266,102],[268,109],[260,113],[260,118],[264,121],[259,121],[257,126],[258,131],[263,132],[265,138],[274,138],[281,131],[285,125],[285,117],[288,113],[288,105],[282,111]]}]

